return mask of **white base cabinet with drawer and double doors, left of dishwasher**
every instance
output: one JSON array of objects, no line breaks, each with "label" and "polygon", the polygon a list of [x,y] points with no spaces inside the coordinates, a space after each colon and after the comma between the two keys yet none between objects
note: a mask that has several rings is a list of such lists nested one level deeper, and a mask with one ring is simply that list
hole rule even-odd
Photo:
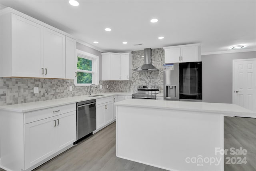
[{"label": "white base cabinet with drawer and double doors, left of dishwasher", "polygon": [[1,110],[1,168],[32,170],[73,146],[76,103],[31,112]]}]

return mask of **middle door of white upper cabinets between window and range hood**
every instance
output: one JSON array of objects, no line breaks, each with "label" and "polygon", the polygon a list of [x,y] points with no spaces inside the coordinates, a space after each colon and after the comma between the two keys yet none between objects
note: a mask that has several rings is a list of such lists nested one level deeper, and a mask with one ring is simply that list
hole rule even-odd
[{"label": "middle door of white upper cabinets between window and range hood", "polygon": [[[103,65],[103,64],[102,64]],[[110,55],[110,80],[121,80],[121,56]]]}]

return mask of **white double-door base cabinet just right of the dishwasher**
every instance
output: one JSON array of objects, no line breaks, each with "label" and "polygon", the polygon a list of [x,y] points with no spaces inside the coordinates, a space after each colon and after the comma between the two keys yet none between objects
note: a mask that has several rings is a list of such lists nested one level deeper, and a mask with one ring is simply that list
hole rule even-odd
[{"label": "white double-door base cabinet just right of the dishwasher", "polygon": [[113,112],[113,96],[96,99],[96,131],[115,120]]}]

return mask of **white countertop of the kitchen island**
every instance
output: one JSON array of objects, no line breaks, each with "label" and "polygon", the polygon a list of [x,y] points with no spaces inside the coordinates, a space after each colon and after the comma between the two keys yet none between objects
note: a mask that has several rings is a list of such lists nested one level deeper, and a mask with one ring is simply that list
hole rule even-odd
[{"label": "white countertop of the kitchen island", "polygon": [[224,114],[224,116],[256,117],[255,112],[244,107],[229,103],[126,99],[123,101],[118,101],[114,104],[120,106],[220,113]]}]

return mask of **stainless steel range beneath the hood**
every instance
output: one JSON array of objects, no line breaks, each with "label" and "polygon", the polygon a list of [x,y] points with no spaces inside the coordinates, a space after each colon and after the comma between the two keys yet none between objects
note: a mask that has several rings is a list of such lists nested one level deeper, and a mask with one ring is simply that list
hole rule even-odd
[{"label": "stainless steel range beneath the hood", "polygon": [[133,99],[156,99],[159,93],[158,85],[138,85],[138,93],[133,93]]}]

